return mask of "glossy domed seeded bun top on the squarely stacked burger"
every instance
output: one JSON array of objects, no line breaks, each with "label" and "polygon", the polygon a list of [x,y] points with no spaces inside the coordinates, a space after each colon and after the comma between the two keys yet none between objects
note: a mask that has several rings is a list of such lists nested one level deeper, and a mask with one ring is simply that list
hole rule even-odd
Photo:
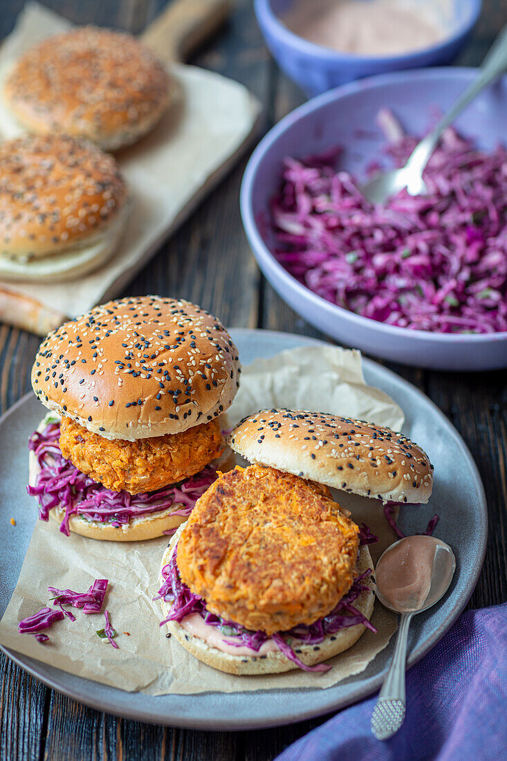
[{"label": "glossy domed seeded bun top on the squarely stacked burger", "polygon": [[40,345],[32,387],[44,406],[104,438],[185,431],[225,412],[241,366],[224,326],[183,299],[110,301]]}]

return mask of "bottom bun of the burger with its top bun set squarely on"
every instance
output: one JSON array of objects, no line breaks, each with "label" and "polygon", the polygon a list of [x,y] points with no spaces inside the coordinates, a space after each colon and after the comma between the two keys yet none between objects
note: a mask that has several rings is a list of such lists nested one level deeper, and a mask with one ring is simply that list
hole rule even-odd
[{"label": "bottom bun of the burger with its top bun set squarely on", "polygon": [[[37,428],[37,431],[43,431],[44,428],[45,424],[42,421]],[[218,457],[217,460],[212,461],[212,465],[215,465],[218,470],[222,470],[222,472],[234,468],[235,458],[231,449],[225,447],[225,451],[222,452],[222,455]],[[30,451],[28,453],[28,482],[30,486],[35,486],[39,473],[40,465],[37,461],[37,457],[33,451]],[[172,514],[178,509],[180,509],[180,505],[174,505],[174,508],[171,508],[170,510],[164,510],[160,513],[145,517],[133,518],[128,524],[124,524],[120,527],[100,523],[100,521],[88,521],[84,517],[71,515],[71,517],[69,517],[69,530],[80,534],[81,537],[88,537],[89,539],[110,542],[141,542],[148,539],[155,539],[156,537],[162,537],[164,531],[180,526],[182,521],[185,521],[186,519],[181,515]],[[49,511],[49,515],[61,524],[65,517],[65,510],[63,508],[53,508]]]}]

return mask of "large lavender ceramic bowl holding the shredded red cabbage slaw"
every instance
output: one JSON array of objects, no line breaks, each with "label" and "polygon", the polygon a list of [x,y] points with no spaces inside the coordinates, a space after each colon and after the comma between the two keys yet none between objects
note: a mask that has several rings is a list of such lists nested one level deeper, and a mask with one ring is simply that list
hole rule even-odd
[{"label": "large lavender ceramic bowl holding the shredded red cabbage slaw", "polygon": [[[390,107],[407,132],[421,133],[435,109],[445,110],[477,75],[474,68],[431,68],[395,72],[346,84],[297,108],[263,138],[250,158],[241,185],[241,216],[253,254],[273,288],[309,323],[368,354],[438,370],[491,370],[507,367],[507,332],[450,335],[409,330],[361,317],[337,307],[301,285],[276,261],[269,232],[258,222],[269,214],[279,186],[282,161],[343,146],[340,166],[362,176],[384,138],[375,125],[381,107]],[[505,140],[507,77],[483,91],[456,120],[456,127],[492,149]],[[263,237],[264,236],[264,237]]]}]

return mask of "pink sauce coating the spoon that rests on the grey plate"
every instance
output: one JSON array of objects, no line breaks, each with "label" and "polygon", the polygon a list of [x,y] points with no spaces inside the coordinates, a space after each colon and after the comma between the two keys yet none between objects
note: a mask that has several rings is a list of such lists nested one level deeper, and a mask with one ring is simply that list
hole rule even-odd
[{"label": "pink sauce coating the spoon that rests on the grey plate", "polygon": [[429,537],[407,537],[385,552],[375,577],[382,596],[397,610],[419,610],[431,587],[435,543]]}]

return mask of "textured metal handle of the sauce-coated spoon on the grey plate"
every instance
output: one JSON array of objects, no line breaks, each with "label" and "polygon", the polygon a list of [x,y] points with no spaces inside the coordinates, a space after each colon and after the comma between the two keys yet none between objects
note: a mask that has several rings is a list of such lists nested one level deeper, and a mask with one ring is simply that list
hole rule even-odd
[{"label": "textured metal handle of the sauce-coated spoon on the grey plate", "polygon": [[405,664],[407,637],[413,613],[403,613],[394,647],[391,668],[385,677],[371,715],[371,731],[377,740],[387,740],[400,729],[405,719]]}]

